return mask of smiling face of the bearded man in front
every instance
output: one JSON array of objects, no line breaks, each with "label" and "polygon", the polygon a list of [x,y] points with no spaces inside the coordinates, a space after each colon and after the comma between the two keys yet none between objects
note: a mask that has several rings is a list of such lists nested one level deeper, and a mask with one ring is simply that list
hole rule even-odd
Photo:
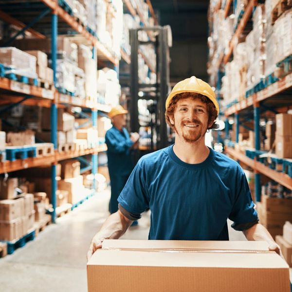
[{"label": "smiling face of the bearded man in front", "polygon": [[169,117],[178,136],[187,143],[193,143],[204,137],[207,129],[209,114],[206,103],[199,98],[186,97],[180,99],[172,117]]}]

